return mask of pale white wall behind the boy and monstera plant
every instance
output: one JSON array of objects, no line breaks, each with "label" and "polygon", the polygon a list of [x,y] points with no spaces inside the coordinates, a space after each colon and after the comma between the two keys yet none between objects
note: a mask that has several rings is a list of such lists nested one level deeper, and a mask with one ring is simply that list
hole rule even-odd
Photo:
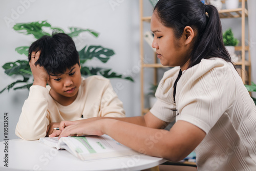
[{"label": "pale white wall behind the boy and monstera plant", "polygon": [[[111,2],[115,4],[111,5]],[[19,16],[14,15],[13,11],[19,12]],[[6,17],[13,19],[13,22],[10,24],[6,22]],[[134,83],[122,79],[111,79],[111,82],[114,88],[117,82],[123,85],[117,94],[123,101],[126,115],[140,115],[139,1],[2,0],[0,18],[1,90],[14,80],[4,73],[3,64],[17,59],[25,60],[27,57],[19,55],[15,52],[15,48],[29,46],[35,40],[31,35],[17,33],[12,26],[15,23],[47,20],[52,26],[61,27],[67,32],[68,27],[80,27],[100,33],[98,38],[88,33],[81,34],[79,39],[75,40],[77,49],[80,50],[85,45],[101,45],[115,51],[115,55],[107,63],[93,60],[90,64],[112,68],[117,73],[134,78]],[[9,93],[6,91],[0,95],[0,130],[3,129],[3,115],[8,112],[9,139],[17,138],[15,126],[27,97],[28,90],[11,90]],[[2,140],[3,131],[0,131],[0,141]]]}]

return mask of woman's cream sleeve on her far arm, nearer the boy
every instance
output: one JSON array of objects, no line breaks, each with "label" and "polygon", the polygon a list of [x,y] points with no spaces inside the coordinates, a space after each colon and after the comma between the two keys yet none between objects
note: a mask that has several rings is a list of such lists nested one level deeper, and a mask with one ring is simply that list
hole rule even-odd
[{"label": "woman's cream sleeve on her far arm, nearer the boy", "polygon": [[173,98],[173,85],[178,77],[179,71],[180,68],[175,67],[164,73],[155,94],[157,101],[150,110],[154,116],[165,122],[172,122],[175,120],[176,104],[174,103]]}]

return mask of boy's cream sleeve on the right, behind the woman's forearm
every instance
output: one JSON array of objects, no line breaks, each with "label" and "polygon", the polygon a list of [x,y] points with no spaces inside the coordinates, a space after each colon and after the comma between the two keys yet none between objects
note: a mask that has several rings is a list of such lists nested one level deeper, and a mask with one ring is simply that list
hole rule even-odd
[{"label": "boy's cream sleeve on the right, behind the woman's forearm", "polygon": [[103,90],[98,115],[104,117],[125,117],[123,103],[113,90],[110,80],[108,80],[106,88]]}]

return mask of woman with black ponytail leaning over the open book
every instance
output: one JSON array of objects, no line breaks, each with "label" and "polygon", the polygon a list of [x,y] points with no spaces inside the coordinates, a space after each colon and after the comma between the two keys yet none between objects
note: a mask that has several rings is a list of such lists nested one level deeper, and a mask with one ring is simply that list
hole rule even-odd
[{"label": "woman with black ponytail leaning over the open book", "polygon": [[[175,68],[161,79],[150,112],[63,121],[60,136],[107,134],[171,161],[195,150],[198,170],[256,170],[256,106],[223,45],[217,9],[199,0],[160,0],[151,30],[162,65]],[[170,131],[162,130],[175,118]]]}]

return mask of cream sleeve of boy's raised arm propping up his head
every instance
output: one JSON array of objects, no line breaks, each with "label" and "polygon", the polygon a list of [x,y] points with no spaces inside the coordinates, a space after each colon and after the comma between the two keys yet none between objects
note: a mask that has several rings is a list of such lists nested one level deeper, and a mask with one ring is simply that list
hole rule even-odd
[{"label": "cream sleeve of boy's raised arm propping up his head", "polygon": [[47,95],[49,91],[41,86],[31,86],[22,113],[16,125],[15,134],[25,140],[37,140],[46,136],[49,124]]}]

